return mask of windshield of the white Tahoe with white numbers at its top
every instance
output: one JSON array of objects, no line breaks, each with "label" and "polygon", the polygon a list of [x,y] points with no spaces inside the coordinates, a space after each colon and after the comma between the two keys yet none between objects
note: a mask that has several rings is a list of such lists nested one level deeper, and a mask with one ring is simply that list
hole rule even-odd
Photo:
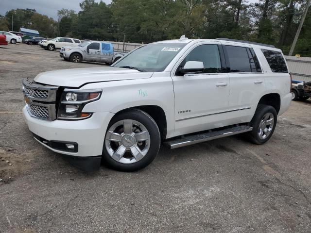
[{"label": "windshield of the white Tahoe with white numbers at its top", "polygon": [[186,43],[158,43],[142,46],[131,52],[113,67],[140,71],[163,71]]}]

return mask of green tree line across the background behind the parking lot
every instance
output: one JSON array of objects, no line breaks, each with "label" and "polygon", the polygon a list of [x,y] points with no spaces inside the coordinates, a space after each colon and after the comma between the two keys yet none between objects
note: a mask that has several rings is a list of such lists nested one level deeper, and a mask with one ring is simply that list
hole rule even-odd
[{"label": "green tree line across the background behind the parking lot", "polygon": [[[150,43],[179,38],[250,40],[273,44],[289,52],[307,0],[82,0],[81,11],[58,11],[60,36],[80,39]],[[310,11],[310,10],[309,10]],[[16,9],[0,18],[0,27],[24,26],[57,35],[57,22],[33,9]],[[28,22],[32,22],[29,26]],[[311,13],[297,41],[295,53],[311,56]]]}]

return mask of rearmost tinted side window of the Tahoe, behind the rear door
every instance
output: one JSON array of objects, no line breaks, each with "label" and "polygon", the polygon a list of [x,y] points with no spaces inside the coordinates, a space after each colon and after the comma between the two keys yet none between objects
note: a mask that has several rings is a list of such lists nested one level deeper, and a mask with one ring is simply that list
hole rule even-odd
[{"label": "rearmost tinted side window of the Tahoe, behind the rear door", "polygon": [[288,73],[282,53],[272,50],[261,50],[272,70],[276,73]]}]

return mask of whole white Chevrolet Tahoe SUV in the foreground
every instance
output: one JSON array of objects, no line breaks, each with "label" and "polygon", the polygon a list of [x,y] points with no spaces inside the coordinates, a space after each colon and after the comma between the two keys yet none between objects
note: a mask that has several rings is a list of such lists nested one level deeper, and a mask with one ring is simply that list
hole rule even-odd
[{"label": "whole white Chevrolet Tahoe SUV in the foreground", "polygon": [[111,67],[23,80],[35,139],[86,170],[133,171],[169,148],[248,133],[269,140],[290,106],[282,51],[246,41],[188,39],[139,47]]}]

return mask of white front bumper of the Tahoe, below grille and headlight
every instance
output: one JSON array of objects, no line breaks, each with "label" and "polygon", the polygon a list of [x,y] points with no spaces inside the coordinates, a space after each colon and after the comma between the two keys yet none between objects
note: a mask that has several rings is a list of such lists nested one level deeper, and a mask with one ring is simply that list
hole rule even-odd
[{"label": "white front bumper of the Tahoe, below grille and headlight", "polygon": [[69,152],[52,148],[41,140],[36,140],[48,149],[70,156],[90,157],[103,153],[104,136],[113,113],[93,113],[85,120],[41,120],[30,116],[26,106],[23,108],[24,120],[29,130],[48,141],[73,142],[78,145],[77,152]]}]

